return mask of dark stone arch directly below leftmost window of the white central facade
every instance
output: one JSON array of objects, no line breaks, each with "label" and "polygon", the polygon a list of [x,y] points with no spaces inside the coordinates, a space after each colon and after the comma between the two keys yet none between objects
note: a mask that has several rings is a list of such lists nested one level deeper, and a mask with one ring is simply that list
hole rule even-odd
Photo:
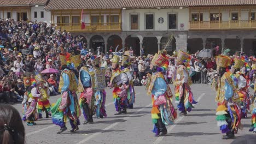
[{"label": "dark stone arch directly below leftmost window of the white central facade", "polygon": [[128,35],[125,38],[125,47],[127,50],[130,50],[130,48],[133,50],[133,55],[139,56],[140,55],[140,40],[137,37],[137,35]]}]

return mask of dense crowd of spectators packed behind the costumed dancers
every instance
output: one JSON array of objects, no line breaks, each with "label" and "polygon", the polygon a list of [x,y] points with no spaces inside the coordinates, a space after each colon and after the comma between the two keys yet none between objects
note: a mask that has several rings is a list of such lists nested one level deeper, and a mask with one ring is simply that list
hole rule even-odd
[{"label": "dense crowd of spectators packed behind the costumed dancers", "polygon": [[[65,30],[56,29],[54,26],[44,22],[14,21],[13,19],[0,20],[0,102],[16,103],[22,101],[22,97],[27,87],[24,84],[24,77],[40,74],[45,69],[56,69],[59,73],[44,74],[45,86],[49,87],[51,95],[57,95],[59,86],[59,75],[61,64],[59,53],[62,49],[73,55],[80,54],[84,60],[75,69],[76,74],[82,65],[91,67],[90,56],[101,55],[102,67],[107,69],[106,83],[111,77],[111,58],[113,47],[104,55],[101,49],[96,51],[87,47],[81,37],[73,35]],[[145,86],[148,74],[151,74],[150,62],[153,55],[135,57],[132,47],[130,47],[131,65],[130,70],[133,74],[133,84],[135,86]],[[116,53],[115,53],[116,54]],[[218,76],[214,58],[199,58],[191,55],[190,76],[193,83],[211,83],[214,77]],[[174,58],[170,59],[170,64],[165,72],[169,83],[173,83],[176,75]],[[253,61],[248,64],[253,66]],[[247,71],[247,70],[243,70]],[[251,81],[255,80],[256,75],[247,71]]]}]

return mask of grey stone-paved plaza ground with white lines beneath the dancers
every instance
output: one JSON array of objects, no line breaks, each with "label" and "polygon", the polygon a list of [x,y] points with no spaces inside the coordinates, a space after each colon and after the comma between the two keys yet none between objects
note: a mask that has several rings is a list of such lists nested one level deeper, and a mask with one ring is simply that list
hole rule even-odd
[{"label": "grey stone-paved plaza ground with white lines beneath the dancers", "polygon": [[[171,86],[173,90],[173,86]],[[195,100],[199,103],[195,109],[185,117],[178,117],[174,125],[167,126],[168,134],[163,137],[154,137],[153,124],[150,115],[151,99],[146,95],[144,87],[135,87],[136,100],[134,109],[127,110],[126,115],[115,116],[112,98],[112,89],[106,88],[107,118],[94,118],[94,123],[79,125],[76,133],[69,133],[71,129],[61,135],[56,134],[60,129],[51,122],[51,118],[43,118],[37,121],[36,126],[26,129],[26,141],[28,144],[36,143],[207,143],[249,144],[256,142],[256,135],[249,132],[251,114],[249,118],[242,119],[243,130],[239,130],[235,140],[222,140],[219,127],[215,120],[215,92],[208,85],[194,84],[191,86]],[[55,103],[60,95],[50,98],[50,103]],[[14,105],[21,112],[21,104]],[[45,117],[45,116],[43,116]],[[84,117],[80,117],[84,121]]]}]

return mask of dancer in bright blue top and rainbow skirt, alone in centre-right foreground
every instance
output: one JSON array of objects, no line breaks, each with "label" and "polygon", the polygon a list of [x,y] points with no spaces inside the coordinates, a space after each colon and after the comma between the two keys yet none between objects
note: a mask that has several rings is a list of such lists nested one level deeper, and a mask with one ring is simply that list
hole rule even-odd
[{"label": "dancer in bright blue top and rainbow skirt, alone in centre-right foreground", "polygon": [[152,95],[153,107],[151,113],[155,136],[166,135],[165,125],[173,124],[174,119],[177,118],[177,112],[171,102],[171,88],[163,74],[168,67],[168,59],[165,54],[165,52],[159,53],[159,55],[155,54],[150,65],[153,74],[147,88],[147,94]]}]

